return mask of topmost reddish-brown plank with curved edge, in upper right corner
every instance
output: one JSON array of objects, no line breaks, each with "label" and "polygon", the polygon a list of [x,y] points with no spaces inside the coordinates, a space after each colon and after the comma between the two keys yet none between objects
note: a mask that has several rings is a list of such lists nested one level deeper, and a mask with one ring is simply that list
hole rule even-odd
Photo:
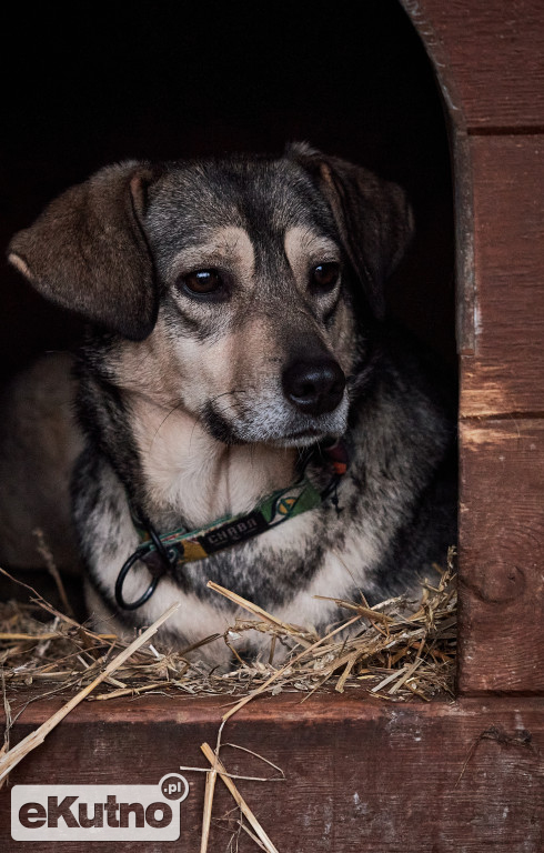
[{"label": "topmost reddish-brown plank with curved edge, in upper right corner", "polygon": [[402,0],[452,116],[475,132],[544,126],[541,0]]}]

